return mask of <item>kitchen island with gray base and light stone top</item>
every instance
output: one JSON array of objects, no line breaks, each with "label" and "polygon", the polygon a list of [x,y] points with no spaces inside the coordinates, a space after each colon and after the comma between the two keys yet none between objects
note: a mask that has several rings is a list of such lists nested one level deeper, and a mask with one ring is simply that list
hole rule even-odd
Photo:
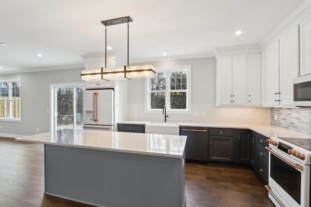
[{"label": "kitchen island with gray base and light stone top", "polygon": [[44,143],[45,194],[105,207],[183,207],[186,136],[63,129]]}]

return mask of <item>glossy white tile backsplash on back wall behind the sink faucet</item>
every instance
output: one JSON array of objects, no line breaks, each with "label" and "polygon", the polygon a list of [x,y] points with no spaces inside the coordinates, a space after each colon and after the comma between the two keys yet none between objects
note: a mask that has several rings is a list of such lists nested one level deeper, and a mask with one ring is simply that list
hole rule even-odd
[{"label": "glossy white tile backsplash on back wall behind the sink faucet", "polygon": [[[167,114],[169,122],[270,124],[270,108],[266,107],[216,107],[215,104],[192,104],[191,113],[167,112]],[[144,104],[128,104],[128,120],[164,121],[164,115],[162,110],[146,113]]]}]

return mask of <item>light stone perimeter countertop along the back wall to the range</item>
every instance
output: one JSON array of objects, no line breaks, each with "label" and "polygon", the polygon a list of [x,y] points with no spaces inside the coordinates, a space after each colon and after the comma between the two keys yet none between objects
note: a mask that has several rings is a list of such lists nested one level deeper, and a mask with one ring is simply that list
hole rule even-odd
[{"label": "light stone perimeter countertop along the back wall to the range", "polygon": [[[154,121],[157,122],[157,121]],[[124,121],[119,124],[143,124],[147,125],[150,121]],[[164,123],[164,122],[163,122]],[[170,123],[170,122],[168,122]],[[180,122],[178,126],[183,127],[214,127],[214,128],[241,128],[241,129],[251,129],[261,135],[268,138],[271,137],[287,137],[287,138],[302,138],[311,139],[310,135],[302,134],[285,128],[274,127],[270,125],[254,125],[254,124],[235,124],[229,122],[222,123],[193,123],[193,122]]]}]

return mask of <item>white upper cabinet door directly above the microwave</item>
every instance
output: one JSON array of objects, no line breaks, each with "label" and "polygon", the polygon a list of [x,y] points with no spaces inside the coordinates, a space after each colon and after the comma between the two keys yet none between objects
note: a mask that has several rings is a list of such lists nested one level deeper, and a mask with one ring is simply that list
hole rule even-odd
[{"label": "white upper cabinet door directly above the microwave", "polygon": [[300,76],[311,74],[311,16],[300,22]]}]

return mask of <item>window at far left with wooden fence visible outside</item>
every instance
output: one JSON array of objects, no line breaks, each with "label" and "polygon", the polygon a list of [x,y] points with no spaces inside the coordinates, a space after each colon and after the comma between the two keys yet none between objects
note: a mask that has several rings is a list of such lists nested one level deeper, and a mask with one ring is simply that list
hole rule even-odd
[{"label": "window at far left with wooden fence visible outside", "polygon": [[0,80],[0,120],[20,121],[20,78]]}]

